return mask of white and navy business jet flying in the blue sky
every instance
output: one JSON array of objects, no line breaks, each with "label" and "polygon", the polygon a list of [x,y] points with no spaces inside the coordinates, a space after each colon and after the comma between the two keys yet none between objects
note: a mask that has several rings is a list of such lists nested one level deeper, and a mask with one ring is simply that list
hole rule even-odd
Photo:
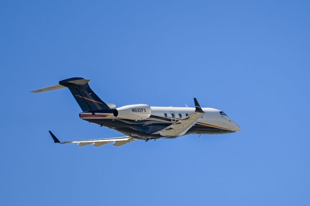
[{"label": "white and navy business jet flying in the blue sky", "polygon": [[61,142],[51,132],[54,143],[96,147],[113,142],[122,146],[135,140],[177,138],[186,134],[224,134],[240,131],[240,127],[223,111],[202,108],[194,98],[195,107],[159,107],[147,104],[132,104],[116,108],[115,104],[103,102],[90,88],[90,79],[73,77],[59,81],[58,85],[33,90],[69,88],[82,109],[79,117],[85,121],[105,126],[123,133],[124,137]]}]

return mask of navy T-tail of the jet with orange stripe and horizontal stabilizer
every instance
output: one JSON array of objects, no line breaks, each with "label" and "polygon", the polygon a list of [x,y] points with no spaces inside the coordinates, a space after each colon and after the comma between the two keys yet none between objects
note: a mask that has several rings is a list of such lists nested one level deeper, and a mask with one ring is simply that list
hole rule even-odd
[{"label": "navy T-tail of the jet with orange stripe and horizontal stabilizer", "polygon": [[60,81],[59,85],[37,89],[32,92],[42,92],[58,88],[69,88],[83,112],[105,110],[115,107],[113,104],[104,103],[90,88],[88,85],[89,81],[90,79],[73,77]]}]

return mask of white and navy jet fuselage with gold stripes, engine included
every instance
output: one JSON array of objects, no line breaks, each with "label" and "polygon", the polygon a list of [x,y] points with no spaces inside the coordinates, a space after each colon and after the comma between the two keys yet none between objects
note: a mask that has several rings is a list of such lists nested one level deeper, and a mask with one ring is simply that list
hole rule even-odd
[{"label": "white and navy jet fuselage with gold stripes, engine included", "polygon": [[[240,131],[240,127],[224,112],[213,108],[202,108],[202,112],[199,118],[190,120],[188,118],[197,114],[196,108],[132,104],[109,110],[107,113],[83,112],[80,113],[80,118],[115,129],[136,139],[175,138],[190,133],[223,134]],[[182,126],[177,126],[177,122],[181,122]],[[173,127],[174,133],[169,129],[170,126]]]}]

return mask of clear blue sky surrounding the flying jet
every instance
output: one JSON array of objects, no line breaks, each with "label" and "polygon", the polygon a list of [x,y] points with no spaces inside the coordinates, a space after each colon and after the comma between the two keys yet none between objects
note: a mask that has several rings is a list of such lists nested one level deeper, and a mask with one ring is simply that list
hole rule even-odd
[{"label": "clear blue sky surrounding the flying jet", "polygon": [[[309,206],[310,3],[0,1],[0,205]],[[241,132],[123,147],[67,89],[223,110]]]}]

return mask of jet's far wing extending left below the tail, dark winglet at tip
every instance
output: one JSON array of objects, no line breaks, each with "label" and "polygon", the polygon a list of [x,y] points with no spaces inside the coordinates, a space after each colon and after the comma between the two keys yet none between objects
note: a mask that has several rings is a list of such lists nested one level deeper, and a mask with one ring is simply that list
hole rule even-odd
[{"label": "jet's far wing extending left below the tail, dark winglet at tip", "polygon": [[125,137],[117,137],[117,138],[107,138],[107,139],[92,139],[92,140],[78,140],[78,141],[70,141],[70,142],[61,142],[57,139],[57,137],[51,132],[48,131],[49,134],[52,136],[54,143],[59,144],[70,144],[70,143],[76,143],[78,146],[85,146],[85,145],[93,145],[96,147],[103,146],[105,144],[108,144],[110,142],[114,142],[114,146],[122,146],[124,144],[130,143],[135,141],[135,139],[125,136]]}]

